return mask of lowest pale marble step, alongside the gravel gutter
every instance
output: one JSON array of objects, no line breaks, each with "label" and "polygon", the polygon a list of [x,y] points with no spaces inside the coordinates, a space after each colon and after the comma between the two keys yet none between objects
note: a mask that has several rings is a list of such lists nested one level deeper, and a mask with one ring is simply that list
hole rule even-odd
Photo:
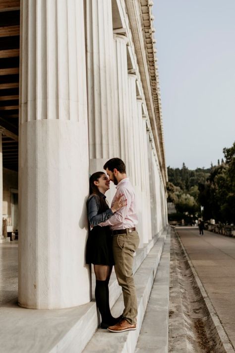
[{"label": "lowest pale marble step, alongside the gravel gutter", "polygon": [[169,234],[145,311],[136,353],[168,353],[170,241]]}]

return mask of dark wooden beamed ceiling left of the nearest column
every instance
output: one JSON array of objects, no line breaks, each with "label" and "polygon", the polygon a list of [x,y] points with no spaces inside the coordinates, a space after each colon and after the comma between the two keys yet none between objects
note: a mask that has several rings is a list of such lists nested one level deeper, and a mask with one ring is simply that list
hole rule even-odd
[{"label": "dark wooden beamed ceiling left of the nearest column", "polygon": [[20,0],[0,0],[2,159],[3,167],[12,170],[18,170],[19,32]]}]

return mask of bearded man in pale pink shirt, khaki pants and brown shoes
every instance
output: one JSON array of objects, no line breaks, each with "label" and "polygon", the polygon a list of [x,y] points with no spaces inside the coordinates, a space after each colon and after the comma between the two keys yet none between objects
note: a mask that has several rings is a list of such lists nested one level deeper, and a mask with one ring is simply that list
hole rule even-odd
[{"label": "bearded man in pale pink shirt, khaki pants and brown shoes", "polygon": [[115,212],[107,221],[99,225],[110,225],[113,233],[113,251],[115,273],[118,284],[122,287],[124,310],[122,319],[108,328],[111,332],[123,332],[136,329],[137,300],[132,273],[133,254],[139,245],[139,236],[135,229],[138,223],[135,205],[134,188],[126,177],[125,164],[119,158],[112,158],[105,163],[109,178],[116,186],[117,192],[112,201],[121,195],[126,199],[126,206]]}]

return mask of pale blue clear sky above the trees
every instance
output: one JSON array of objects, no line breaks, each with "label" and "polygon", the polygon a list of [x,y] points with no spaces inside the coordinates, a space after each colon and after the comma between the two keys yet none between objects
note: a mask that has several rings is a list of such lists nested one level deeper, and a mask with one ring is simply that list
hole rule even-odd
[{"label": "pale blue clear sky above the trees", "polygon": [[155,0],[166,164],[210,168],[235,141],[235,0]]}]

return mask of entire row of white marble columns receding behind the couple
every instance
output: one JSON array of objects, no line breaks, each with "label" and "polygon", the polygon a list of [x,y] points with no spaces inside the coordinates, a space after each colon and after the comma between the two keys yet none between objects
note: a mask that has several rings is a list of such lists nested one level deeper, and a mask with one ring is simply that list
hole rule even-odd
[{"label": "entire row of white marble columns receding behind the couple", "polygon": [[164,185],[112,2],[21,0],[20,26],[19,304],[72,307],[90,300],[89,173],[125,161],[140,246],[166,225]]}]

